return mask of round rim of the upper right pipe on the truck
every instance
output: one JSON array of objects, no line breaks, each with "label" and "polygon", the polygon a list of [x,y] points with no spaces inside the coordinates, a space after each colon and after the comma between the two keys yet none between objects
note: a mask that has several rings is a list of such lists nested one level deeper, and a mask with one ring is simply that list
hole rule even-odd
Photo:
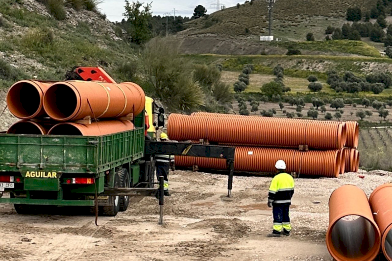
[{"label": "round rim of the upper right pipe on the truck", "polygon": [[[72,81],[70,81],[70,82],[72,82]],[[81,109],[81,102],[80,102],[81,101],[81,97],[80,97],[80,94],[77,91],[77,89],[70,82],[56,82],[56,83],[53,83],[52,85],[49,86],[47,92],[45,93],[44,98],[43,98],[44,110],[45,110],[46,114],[51,119],[54,119],[54,120],[57,120],[57,121],[67,121],[67,120],[72,119],[73,117],[75,117],[79,113],[79,111]],[[73,93],[75,95],[75,98],[76,98],[76,107],[75,107],[73,113],[70,116],[68,116],[68,117],[63,117],[63,118],[57,117],[57,115],[52,111],[53,110],[52,107],[49,106],[49,97],[48,96],[50,95],[50,91],[52,91],[54,87],[58,88],[58,85],[64,85],[64,86],[67,86],[68,88],[70,88],[73,91]],[[50,90],[50,89],[52,89],[52,90]]]}]

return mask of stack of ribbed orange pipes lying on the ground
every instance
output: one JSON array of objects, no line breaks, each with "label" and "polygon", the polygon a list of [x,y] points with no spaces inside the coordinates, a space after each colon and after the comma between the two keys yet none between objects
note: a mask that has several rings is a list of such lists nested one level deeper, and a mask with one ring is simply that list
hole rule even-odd
[{"label": "stack of ribbed orange pipes lying on the ground", "polygon": [[[284,160],[288,172],[338,177],[344,172],[356,172],[359,166],[359,128],[355,121],[171,114],[168,135],[176,141],[204,140],[235,146],[237,171],[275,172],[275,162]],[[183,167],[226,169],[220,159],[176,156],[175,162]]]}]

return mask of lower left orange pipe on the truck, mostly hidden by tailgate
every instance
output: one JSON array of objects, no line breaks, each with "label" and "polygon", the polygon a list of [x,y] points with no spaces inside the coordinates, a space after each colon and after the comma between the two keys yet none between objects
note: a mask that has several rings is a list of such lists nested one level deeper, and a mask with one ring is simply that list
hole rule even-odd
[{"label": "lower left orange pipe on the truck, mostly hidden by tailgate", "polygon": [[45,135],[53,127],[52,122],[38,122],[35,120],[20,120],[8,128],[8,134],[36,134]]}]

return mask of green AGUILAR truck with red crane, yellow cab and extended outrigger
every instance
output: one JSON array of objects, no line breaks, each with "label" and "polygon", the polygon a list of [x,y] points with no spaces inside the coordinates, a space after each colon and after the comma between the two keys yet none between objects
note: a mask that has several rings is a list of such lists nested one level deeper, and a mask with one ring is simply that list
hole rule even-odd
[{"label": "green AGUILAR truck with red crane, yellow cab and extended outrigger", "polygon": [[[99,67],[75,67],[66,80],[116,83]],[[158,142],[157,129],[165,127],[164,110],[150,97],[133,123],[132,130],[93,137],[0,133],[0,203],[13,204],[18,214],[79,206],[115,216],[128,208],[131,196],[159,192],[162,218],[163,179],[155,186],[156,154],[226,159],[230,195],[235,148]]]}]

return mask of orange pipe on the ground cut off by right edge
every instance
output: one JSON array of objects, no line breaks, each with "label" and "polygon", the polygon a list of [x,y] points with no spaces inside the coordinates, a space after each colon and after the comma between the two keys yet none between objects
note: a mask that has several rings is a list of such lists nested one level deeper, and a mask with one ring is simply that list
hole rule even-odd
[{"label": "orange pipe on the ground cut off by right edge", "polygon": [[384,256],[392,261],[392,184],[384,184],[375,189],[369,197],[369,204],[381,231]]}]

